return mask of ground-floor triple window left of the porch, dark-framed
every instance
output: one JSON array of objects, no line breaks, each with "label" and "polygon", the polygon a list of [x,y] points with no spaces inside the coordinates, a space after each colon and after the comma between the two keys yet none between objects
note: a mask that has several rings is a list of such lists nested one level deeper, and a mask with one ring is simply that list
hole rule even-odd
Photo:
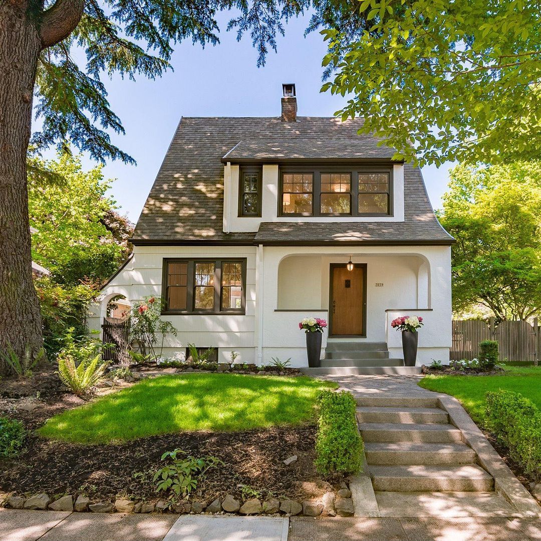
[{"label": "ground-floor triple window left of the porch, dark-framed", "polygon": [[246,259],[164,259],[164,314],[244,314]]}]

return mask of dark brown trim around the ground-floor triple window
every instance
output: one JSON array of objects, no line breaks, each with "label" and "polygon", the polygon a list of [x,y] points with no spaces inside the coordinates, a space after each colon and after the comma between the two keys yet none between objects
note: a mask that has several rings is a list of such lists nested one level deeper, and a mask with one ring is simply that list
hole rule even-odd
[{"label": "dark brown trim around the ground-floor triple window", "polygon": [[[187,298],[186,310],[173,309],[167,307],[167,265],[168,263],[187,263]],[[214,308],[213,309],[195,309],[194,308],[194,290],[195,290],[195,263],[214,263]],[[240,263],[241,264],[241,308],[229,308],[222,310],[222,263]],[[210,257],[168,257],[162,260],[162,315],[245,315],[246,314],[246,258],[210,258]],[[219,309],[216,310],[216,307]]]}]

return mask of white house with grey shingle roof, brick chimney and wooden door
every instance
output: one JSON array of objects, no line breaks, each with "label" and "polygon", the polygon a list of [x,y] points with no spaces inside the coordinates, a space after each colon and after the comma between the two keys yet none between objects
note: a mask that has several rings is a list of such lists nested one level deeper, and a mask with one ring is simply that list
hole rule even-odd
[{"label": "white house with grey shingle roof, brick chimney and wooden door", "polygon": [[298,323],[320,317],[325,365],[359,373],[402,364],[390,323],[412,314],[425,321],[418,364],[448,361],[453,239],[420,170],[358,135],[362,120],[296,116],[294,93],[284,85],[278,118],[181,119],[133,257],[103,288],[91,327],[116,295],[162,296],[179,331],[167,355],[190,342],[217,348],[220,362],[235,350],[237,362],[300,367]]}]

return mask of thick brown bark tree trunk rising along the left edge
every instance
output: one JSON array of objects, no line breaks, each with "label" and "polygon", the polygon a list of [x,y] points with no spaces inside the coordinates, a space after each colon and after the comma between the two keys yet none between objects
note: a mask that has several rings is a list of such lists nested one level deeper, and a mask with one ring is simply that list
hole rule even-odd
[{"label": "thick brown bark tree trunk rising along the left edge", "polygon": [[0,1],[0,349],[9,343],[19,356],[27,347],[35,354],[42,346],[26,167],[42,42],[25,4]]}]

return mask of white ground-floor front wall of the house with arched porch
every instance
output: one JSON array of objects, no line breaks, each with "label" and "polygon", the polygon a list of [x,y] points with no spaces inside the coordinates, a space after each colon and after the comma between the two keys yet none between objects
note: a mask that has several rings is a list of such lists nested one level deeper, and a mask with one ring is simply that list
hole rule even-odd
[{"label": "white ground-floor front wall of the house with arched porch", "polygon": [[[267,364],[272,357],[307,365],[304,317],[328,320],[329,266],[367,265],[366,337],[387,342],[391,357],[402,357],[400,333],[390,327],[399,315],[421,315],[418,364],[448,361],[451,347],[451,250],[449,246],[136,246],[133,258],[103,289],[89,318],[100,330],[108,300],[123,295],[131,303],[161,296],[164,258],[242,257],[247,259],[246,315],[170,315],[178,336],[169,336],[163,354],[183,353],[188,342],[219,348],[219,361]],[[382,285],[377,285],[382,284]],[[322,337],[325,354],[327,331]]]}]

